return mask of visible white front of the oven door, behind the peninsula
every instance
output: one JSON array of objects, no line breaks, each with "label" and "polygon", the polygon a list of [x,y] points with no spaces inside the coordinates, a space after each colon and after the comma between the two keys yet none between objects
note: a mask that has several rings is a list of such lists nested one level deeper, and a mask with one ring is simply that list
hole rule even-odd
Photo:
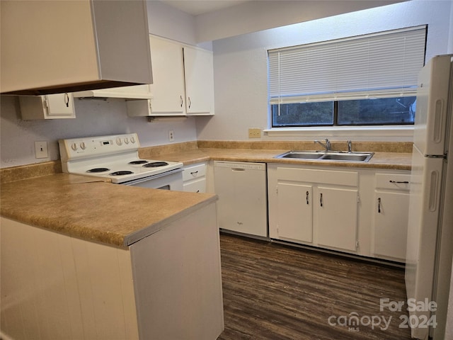
[{"label": "visible white front of the oven door, behind the peninsula", "polygon": [[140,186],[142,188],[183,191],[183,169],[174,169],[162,174],[144,177],[121,183],[126,186]]}]

